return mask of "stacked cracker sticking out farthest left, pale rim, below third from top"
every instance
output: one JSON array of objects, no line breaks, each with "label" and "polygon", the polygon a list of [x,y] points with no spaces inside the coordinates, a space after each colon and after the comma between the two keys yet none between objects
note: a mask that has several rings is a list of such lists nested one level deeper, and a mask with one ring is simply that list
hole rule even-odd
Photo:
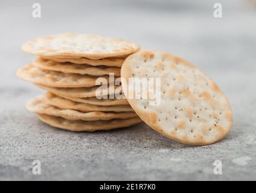
[{"label": "stacked cracker sticking out farthest left, pale rim, below third from top", "polygon": [[[32,83],[53,87],[92,87],[96,85],[98,78],[91,75],[48,71],[34,65],[18,69],[17,76]],[[106,78],[107,83],[111,80],[107,75],[101,77]],[[113,78],[113,81],[116,78],[118,77]]]}]

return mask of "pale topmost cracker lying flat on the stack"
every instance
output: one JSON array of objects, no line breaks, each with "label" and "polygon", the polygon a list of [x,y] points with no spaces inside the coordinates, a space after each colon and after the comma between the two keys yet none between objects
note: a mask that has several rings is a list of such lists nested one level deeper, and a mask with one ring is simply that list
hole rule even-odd
[{"label": "pale topmost cracker lying flat on the stack", "polygon": [[139,46],[121,39],[93,34],[63,33],[39,37],[24,43],[22,50],[46,56],[87,57],[103,59],[132,54]]}]

